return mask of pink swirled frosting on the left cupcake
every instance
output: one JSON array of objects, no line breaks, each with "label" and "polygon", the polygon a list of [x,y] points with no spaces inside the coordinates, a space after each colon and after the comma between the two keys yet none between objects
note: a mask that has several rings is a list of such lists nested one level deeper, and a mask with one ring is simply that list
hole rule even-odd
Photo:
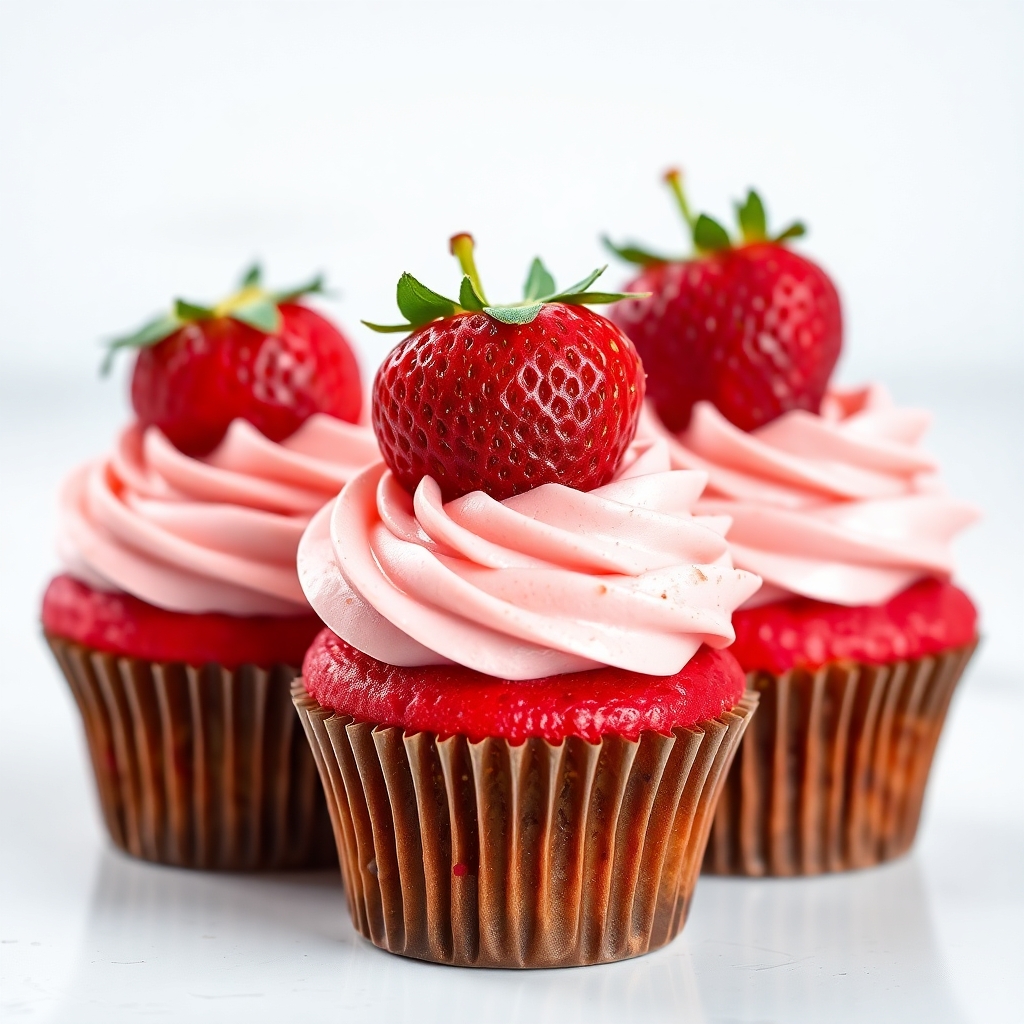
[{"label": "pink swirled frosting on the left cupcake", "polygon": [[172,611],[305,614],[302,531],[379,458],[368,427],[323,414],[281,443],[234,420],[203,459],[135,424],[66,481],[60,554],[91,586]]}]

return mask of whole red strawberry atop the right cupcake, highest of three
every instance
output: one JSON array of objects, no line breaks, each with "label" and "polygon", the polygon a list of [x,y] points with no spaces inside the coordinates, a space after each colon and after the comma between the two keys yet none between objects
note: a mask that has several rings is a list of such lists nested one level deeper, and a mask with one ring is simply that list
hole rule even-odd
[{"label": "whole red strawberry atop the right cupcake, highest of three", "polygon": [[839,295],[817,265],[787,249],[794,224],[769,238],[757,193],[737,205],[741,239],[705,214],[694,218],[678,171],[666,180],[690,227],[695,255],[673,259],[605,243],[643,267],[627,288],[650,297],[611,313],[647,370],[647,394],[671,430],[686,427],[693,403],[714,402],[743,430],[782,413],[816,413],[839,358]]}]

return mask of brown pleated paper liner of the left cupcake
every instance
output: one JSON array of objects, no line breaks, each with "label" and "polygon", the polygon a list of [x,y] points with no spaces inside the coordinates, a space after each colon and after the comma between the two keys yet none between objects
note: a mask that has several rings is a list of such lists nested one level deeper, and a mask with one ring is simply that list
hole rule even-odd
[{"label": "brown pleated paper liner of the left cupcake", "polygon": [[82,714],[103,820],[122,850],[228,870],[337,863],[291,708],[294,669],[196,668],[47,641]]}]

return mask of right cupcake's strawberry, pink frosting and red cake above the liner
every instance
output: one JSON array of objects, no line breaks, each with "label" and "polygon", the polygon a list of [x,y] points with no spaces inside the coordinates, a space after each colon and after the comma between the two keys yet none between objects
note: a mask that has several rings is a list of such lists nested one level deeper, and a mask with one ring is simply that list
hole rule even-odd
[{"label": "right cupcake's strawberry, pink frosting and red cake above the liner", "polygon": [[[769,237],[761,200],[750,191],[737,206],[734,242],[707,215],[693,217],[678,171],[667,179],[694,254],[675,260],[616,248],[643,266],[629,290],[651,294],[620,303],[612,316],[648,371],[641,435],[666,440],[674,466],[709,474],[696,508],[731,517],[735,563],[764,579],[737,616],[734,652],[746,668],[781,671],[969,642],[975,615],[967,598],[933,597],[937,586],[953,590],[950,543],[978,512],[939,483],[921,446],[929,414],[898,408],[879,385],[829,385],[842,344],[839,299],[825,272],[785,246],[804,233],[802,224]],[[930,581],[911,594],[920,595],[920,614],[889,608],[920,581]],[[756,628],[744,616],[797,597],[821,613],[825,604],[883,610],[846,631],[840,624],[848,616],[839,612],[827,629],[813,613],[798,616],[810,633],[795,639],[801,630],[788,622],[788,653],[776,651],[769,665],[764,645],[746,638],[774,632],[775,612],[759,612]]]}]

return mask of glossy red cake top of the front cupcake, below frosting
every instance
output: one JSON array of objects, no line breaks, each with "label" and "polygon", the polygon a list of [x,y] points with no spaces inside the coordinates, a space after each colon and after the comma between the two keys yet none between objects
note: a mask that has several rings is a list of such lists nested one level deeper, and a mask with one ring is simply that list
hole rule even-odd
[{"label": "glossy red cake top of the front cupcake, below frosting", "polygon": [[500,737],[540,736],[597,742],[637,739],[717,718],[743,693],[744,676],[727,650],[701,647],[674,676],[592,669],[544,679],[508,680],[457,665],[399,668],[356,650],[330,629],[302,667],[310,696],[339,714],[410,732]]}]

